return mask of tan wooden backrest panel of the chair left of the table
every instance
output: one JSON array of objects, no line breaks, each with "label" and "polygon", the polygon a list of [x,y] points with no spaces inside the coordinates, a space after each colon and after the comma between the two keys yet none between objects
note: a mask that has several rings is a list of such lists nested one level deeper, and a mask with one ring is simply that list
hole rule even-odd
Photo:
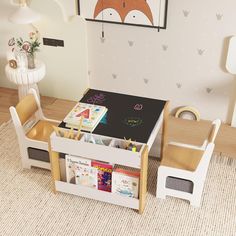
[{"label": "tan wooden backrest panel of the chair left of the table", "polygon": [[16,106],[16,112],[19,116],[20,122],[23,125],[36,111],[38,105],[33,94],[25,96]]}]

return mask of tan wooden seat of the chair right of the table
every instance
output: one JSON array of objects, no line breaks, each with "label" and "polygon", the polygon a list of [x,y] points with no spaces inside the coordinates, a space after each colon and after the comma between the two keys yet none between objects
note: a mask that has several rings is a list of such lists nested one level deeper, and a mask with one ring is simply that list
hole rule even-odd
[{"label": "tan wooden seat of the chair right of the table", "polygon": [[190,149],[169,144],[164,151],[161,166],[195,171],[202,155],[202,150]]}]

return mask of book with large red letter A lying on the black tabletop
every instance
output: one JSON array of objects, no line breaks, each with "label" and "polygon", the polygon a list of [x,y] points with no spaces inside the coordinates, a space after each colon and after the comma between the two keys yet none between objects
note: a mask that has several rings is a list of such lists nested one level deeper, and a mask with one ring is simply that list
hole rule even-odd
[{"label": "book with large red letter A lying on the black tabletop", "polygon": [[63,121],[66,127],[78,129],[83,119],[81,130],[92,132],[106,112],[107,108],[104,106],[79,102]]}]

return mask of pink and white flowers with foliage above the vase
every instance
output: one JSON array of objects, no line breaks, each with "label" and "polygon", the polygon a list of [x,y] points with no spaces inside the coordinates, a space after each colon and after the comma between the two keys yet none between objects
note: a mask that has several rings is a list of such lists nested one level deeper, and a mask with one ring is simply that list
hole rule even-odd
[{"label": "pink and white flowers with foliage above the vase", "polygon": [[34,55],[35,52],[39,51],[40,42],[37,32],[29,33],[29,40],[23,40],[20,38],[11,38],[8,41],[8,46],[12,47],[12,51],[15,50],[15,46],[19,49],[19,51],[26,52],[27,54]]}]

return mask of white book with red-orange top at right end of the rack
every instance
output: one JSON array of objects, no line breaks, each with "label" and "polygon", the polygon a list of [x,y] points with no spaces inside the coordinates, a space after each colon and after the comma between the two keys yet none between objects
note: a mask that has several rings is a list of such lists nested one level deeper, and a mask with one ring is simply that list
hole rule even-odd
[{"label": "white book with red-orange top at right end of the rack", "polygon": [[138,198],[139,172],[116,169],[112,173],[112,193]]}]

